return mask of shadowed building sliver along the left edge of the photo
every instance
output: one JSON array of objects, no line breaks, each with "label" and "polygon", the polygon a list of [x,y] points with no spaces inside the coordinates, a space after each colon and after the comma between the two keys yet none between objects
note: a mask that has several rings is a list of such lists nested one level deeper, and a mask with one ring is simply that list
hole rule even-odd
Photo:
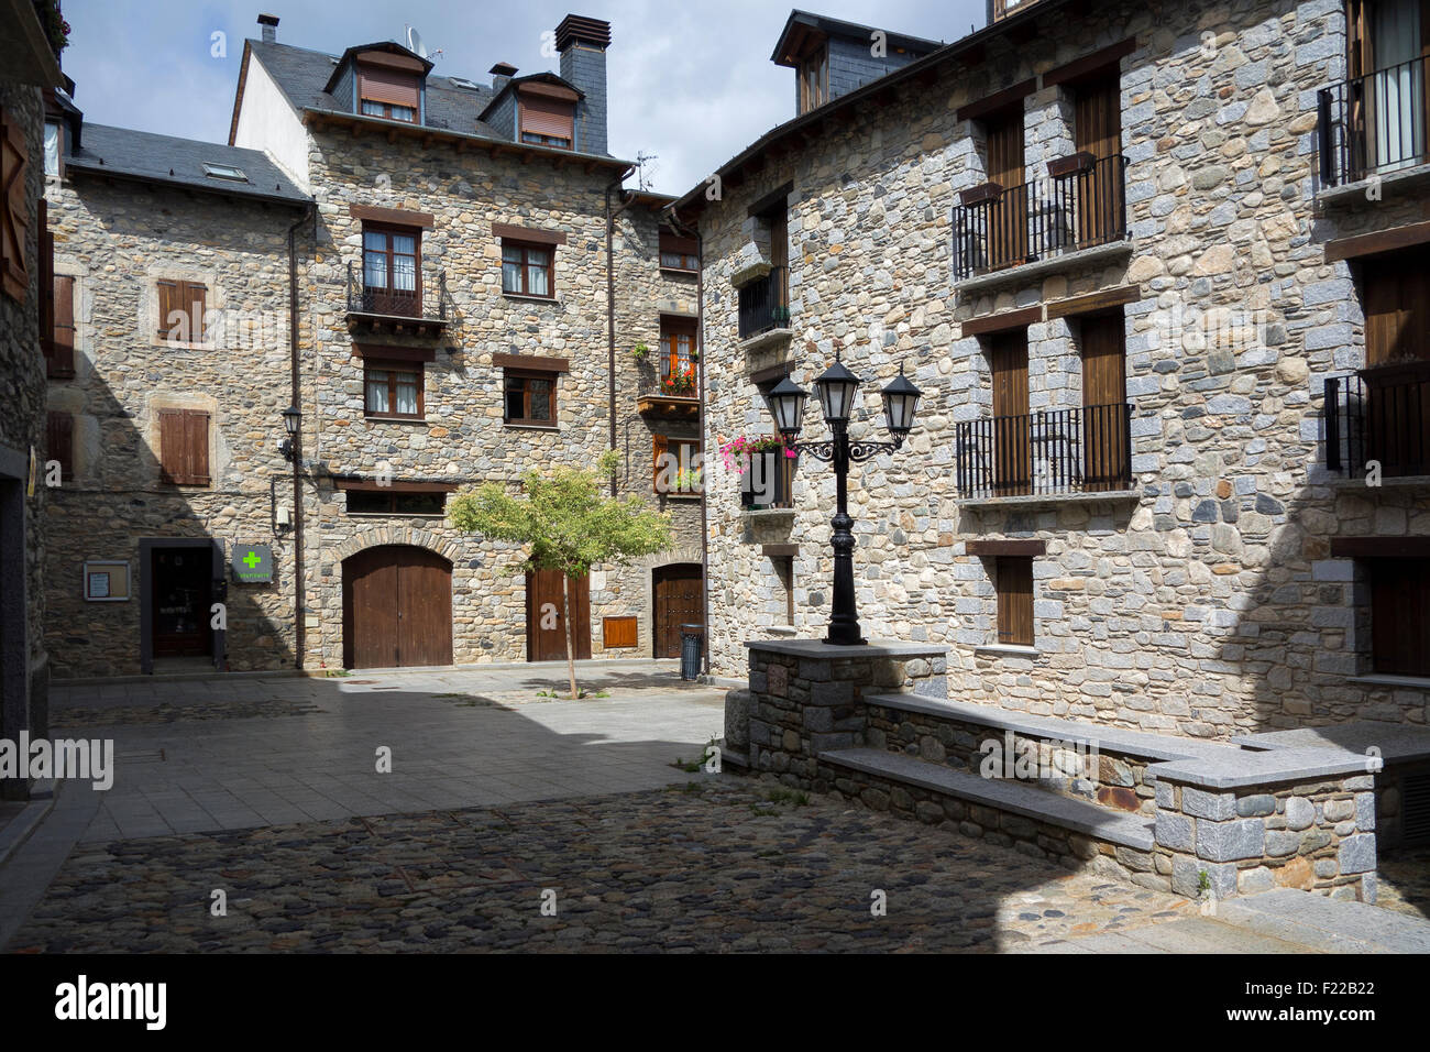
[{"label": "shadowed building sliver along the left edge of the photo", "polygon": [[[0,740],[16,741],[49,733],[41,187],[44,99],[63,73],[33,4],[0,3]],[[0,777],[0,799],[29,793],[27,777]]]}]

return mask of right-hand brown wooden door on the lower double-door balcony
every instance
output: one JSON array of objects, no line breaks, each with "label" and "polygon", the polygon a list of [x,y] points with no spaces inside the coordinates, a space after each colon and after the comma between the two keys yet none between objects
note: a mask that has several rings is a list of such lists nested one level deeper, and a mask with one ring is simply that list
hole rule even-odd
[{"label": "right-hand brown wooden door on the lower double-door balcony", "polygon": [[1123,315],[1084,318],[1081,336],[1083,488],[1121,490],[1131,478]]}]

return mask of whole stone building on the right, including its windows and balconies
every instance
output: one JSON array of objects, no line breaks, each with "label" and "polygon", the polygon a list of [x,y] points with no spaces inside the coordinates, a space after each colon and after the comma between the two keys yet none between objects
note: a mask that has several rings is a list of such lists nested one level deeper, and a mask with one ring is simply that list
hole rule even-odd
[{"label": "whole stone building on the right, including its windows and balconies", "polygon": [[[994,7],[828,79],[672,206],[704,248],[708,441],[769,435],[764,395],[837,354],[854,438],[885,437],[901,368],[922,388],[909,444],[851,472],[857,595],[867,635],[947,651],[958,703],[1183,740],[1423,729],[1419,0]],[[811,398],[802,438],[825,432]],[[822,634],[834,478],[805,459],[774,501],[712,465],[716,674]],[[841,708],[781,759],[751,690],[762,769],[885,741]]]}]

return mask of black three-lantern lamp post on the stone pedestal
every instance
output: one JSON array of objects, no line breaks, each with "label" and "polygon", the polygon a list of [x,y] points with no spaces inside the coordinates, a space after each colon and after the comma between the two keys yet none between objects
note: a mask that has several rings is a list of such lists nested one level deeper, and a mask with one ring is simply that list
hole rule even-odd
[{"label": "black three-lantern lamp post on the stone pedestal", "polygon": [[924,392],[909,382],[904,375],[904,366],[899,365],[898,376],[879,392],[884,399],[884,422],[894,441],[851,442],[849,411],[854,406],[854,394],[859,388],[859,378],[849,372],[839,361],[839,355],[835,354],[834,365],[825,369],[814,385],[824,419],[834,435],[828,442],[795,441],[802,427],[804,404],[808,394],[789,376],[779,381],[769,392],[769,412],[786,445],[834,465],[834,477],[838,484],[838,501],[834,520],[831,520],[834,537],[829,540],[831,547],[834,547],[834,613],[829,617],[829,633],[824,641],[842,647],[861,646],[868,640],[859,634],[859,614],[854,603],[854,532],[851,530],[854,520],[849,518],[848,508],[849,464],[862,464],[881,452],[899,449],[904,439],[908,438],[908,432],[914,429],[914,412],[918,409],[918,398]]}]

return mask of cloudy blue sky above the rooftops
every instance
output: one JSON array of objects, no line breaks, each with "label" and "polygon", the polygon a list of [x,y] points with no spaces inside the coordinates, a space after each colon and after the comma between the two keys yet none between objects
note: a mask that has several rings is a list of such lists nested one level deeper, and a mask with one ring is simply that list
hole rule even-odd
[{"label": "cloudy blue sky above the rooftops", "polygon": [[[509,62],[555,69],[541,34],[571,11],[611,23],[611,152],[654,153],[652,187],[684,193],[794,116],[794,70],[769,62],[791,6],[769,0],[64,0],[72,27],[64,72],[86,120],[225,142],[243,39],[256,19],[282,19],[280,43],[340,54],[402,39],[412,24],[436,72],[489,82]],[[984,24],[984,0],[808,0],[807,10],[957,40]],[[214,57],[214,33],[226,56]]]}]

